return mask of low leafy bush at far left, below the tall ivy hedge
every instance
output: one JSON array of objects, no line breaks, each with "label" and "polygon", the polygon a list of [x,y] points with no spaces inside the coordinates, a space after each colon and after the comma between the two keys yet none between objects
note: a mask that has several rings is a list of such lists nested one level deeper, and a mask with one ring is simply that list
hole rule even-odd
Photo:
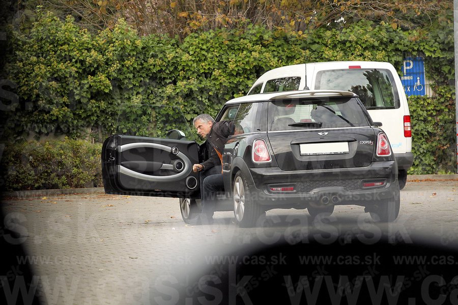
[{"label": "low leafy bush at far left, below the tall ivy hedge", "polygon": [[103,186],[101,150],[101,144],[69,138],[10,143],[0,162],[3,189]]}]

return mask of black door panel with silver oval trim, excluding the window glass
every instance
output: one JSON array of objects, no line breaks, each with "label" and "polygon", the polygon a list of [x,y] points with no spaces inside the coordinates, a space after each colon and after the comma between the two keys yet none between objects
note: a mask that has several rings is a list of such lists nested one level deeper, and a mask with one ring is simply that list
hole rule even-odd
[{"label": "black door panel with silver oval trim, excluding the window glass", "polygon": [[199,198],[194,141],[113,135],[103,145],[107,193]]}]

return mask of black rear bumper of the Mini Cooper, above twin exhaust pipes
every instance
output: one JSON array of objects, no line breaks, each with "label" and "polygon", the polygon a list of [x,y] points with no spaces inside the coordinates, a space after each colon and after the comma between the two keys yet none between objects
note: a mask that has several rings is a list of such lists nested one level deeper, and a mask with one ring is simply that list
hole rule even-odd
[{"label": "black rear bumper of the Mini Cooper, above twin exhaust pipes", "polygon": [[[254,185],[251,197],[271,208],[355,204],[368,206],[390,199],[399,192],[395,161],[373,162],[369,167],[331,170],[282,171],[279,168],[250,169]],[[363,182],[384,185],[363,188]],[[270,187],[294,186],[294,191],[275,192]]]}]

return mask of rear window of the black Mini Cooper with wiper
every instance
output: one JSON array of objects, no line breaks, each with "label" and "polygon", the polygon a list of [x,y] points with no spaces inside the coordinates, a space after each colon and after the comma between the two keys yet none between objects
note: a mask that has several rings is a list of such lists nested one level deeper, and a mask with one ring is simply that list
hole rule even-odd
[{"label": "rear window of the black Mini Cooper with wiper", "polygon": [[268,131],[369,126],[362,107],[353,97],[272,101],[268,115]]}]

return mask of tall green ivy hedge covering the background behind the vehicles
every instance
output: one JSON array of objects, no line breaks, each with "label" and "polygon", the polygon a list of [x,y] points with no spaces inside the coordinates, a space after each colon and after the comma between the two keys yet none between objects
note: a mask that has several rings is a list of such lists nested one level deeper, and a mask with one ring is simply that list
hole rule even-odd
[{"label": "tall green ivy hedge covering the background behind the vehicles", "polygon": [[[425,30],[361,20],[299,35],[248,25],[194,33],[182,42],[138,36],[123,20],[92,34],[72,17],[41,14],[29,34],[8,33],[14,52],[6,77],[15,96],[0,118],[8,140],[47,134],[103,139],[115,131],[122,103],[178,105],[191,123],[197,114],[216,115],[226,100],[246,94],[257,77],[275,67],[373,60],[400,68],[413,54],[424,57],[435,96],[410,99],[416,156],[410,173],[455,172],[452,12]],[[118,127],[138,128],[136,115],[127,114],[131,120]],[[160,130],[177,116],[169,111],[154,124]]]}]

